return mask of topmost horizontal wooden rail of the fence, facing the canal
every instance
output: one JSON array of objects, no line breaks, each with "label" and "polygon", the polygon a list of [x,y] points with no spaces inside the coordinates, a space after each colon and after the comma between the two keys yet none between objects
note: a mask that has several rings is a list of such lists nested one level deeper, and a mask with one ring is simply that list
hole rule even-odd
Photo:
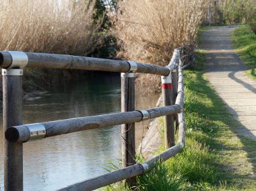
[{"label": "topmost horizontal wooden rail of the fence, facing the canal", "polygon": [[[88,71],[108,71],[126,73],[131,69],[129,61],[117,61],[110,59],[97,59],[85,56],[71,56],[63,54],[45,54],[34,52],[18,52],[23,54],[21,57],[16,56],[16,52],[2,51],[0,52],[0,67],[9,69],[13,65],[18,67],[17,61],[21,62],[22,67],[40,68],[40,69],[79,69]],[[24,58],[26,57],[26,58]],[[15,64],[13,64],[15,61]],[[156,75],[169,75],[170,69],[160,67],[157,65],[150,65],[146,63],[136,63],[137,73],[150,73]]]}]

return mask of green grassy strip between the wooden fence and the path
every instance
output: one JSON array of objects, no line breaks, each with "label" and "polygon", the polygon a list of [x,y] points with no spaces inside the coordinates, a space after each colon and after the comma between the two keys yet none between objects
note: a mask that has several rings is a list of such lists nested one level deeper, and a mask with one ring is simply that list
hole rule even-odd
[{"label": "green grassy strip between the wooden fence and the path", "polygon": [[[137,190],[256,189],[256,143],[236,135],[240,124],[230,117],[205,80],[203,60],[203,54],[197,52],[197,68],[184,72],[186,148],[154,171],[138,177]],[[105,189],[124,189],[114,188]]]}]

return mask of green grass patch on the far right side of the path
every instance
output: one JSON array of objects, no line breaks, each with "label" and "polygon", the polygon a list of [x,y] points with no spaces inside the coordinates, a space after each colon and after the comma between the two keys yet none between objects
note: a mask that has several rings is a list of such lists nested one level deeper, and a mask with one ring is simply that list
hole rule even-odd
[{"label": "green grass patch on the far right side of the path", "polygon": [[256,79],[256,34],[249,26],[241,26],[232,33],[233,46],[247,66],[247,74]]}]

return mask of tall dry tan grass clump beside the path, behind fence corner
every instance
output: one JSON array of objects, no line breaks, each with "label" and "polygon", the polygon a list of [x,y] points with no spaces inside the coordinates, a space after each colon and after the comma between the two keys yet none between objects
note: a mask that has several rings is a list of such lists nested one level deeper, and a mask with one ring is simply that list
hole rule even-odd
[{"label": "tall dry tan grass clump beside the path, behind fence corner", "polygon": [[129,0],[119,3],[115,22],[125,58],[167,65],[172,50],[194,42],[205,0]]}]

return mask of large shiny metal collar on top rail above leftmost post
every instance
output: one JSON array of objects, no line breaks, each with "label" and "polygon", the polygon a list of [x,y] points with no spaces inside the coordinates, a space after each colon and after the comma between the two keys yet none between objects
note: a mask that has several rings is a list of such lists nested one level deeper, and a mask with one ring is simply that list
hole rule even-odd
[{"label": "large shiny metal collar on top rail above leftmost post", "polygon": [[7,69],[23,69],[28,65],[28,56],[25,52],[8,51],[11,54],[11,65]]}]

